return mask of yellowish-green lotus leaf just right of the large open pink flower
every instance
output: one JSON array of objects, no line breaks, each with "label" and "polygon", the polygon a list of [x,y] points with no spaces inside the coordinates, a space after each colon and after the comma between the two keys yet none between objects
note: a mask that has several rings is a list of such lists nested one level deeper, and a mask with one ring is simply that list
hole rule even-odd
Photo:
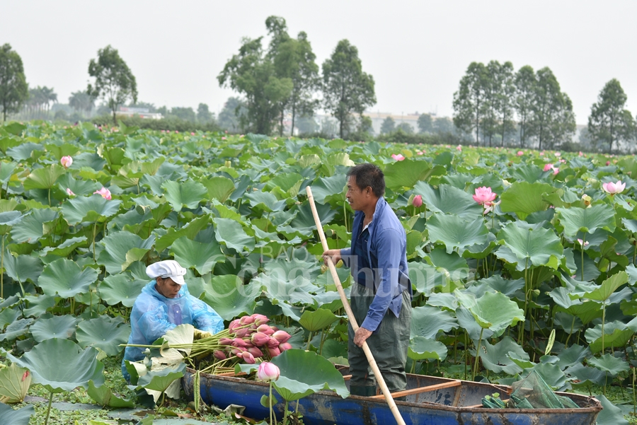
[{"label": "yellowish-green lotus leaf just right of the large open pink flower", "polygon": [[531,213],[549,208],[549,203],[542,198],[542,195],[556,190],[556,187],[546,183],[515,182],[500,197],[502,199],[500,209],[503,212],[515,212],[521,220],[524,220]]}]

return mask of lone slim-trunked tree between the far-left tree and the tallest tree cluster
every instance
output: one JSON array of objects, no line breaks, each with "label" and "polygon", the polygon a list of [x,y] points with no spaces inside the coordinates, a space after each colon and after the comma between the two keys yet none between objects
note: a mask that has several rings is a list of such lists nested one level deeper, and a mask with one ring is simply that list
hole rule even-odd
[{"label": "lone slim-trunked tree between the far-left tree and the tallest tree cluster", "polygon": [[86,91],[94,98],[102,98],[113,112],[113,122],[117,124],[115,111],[119,105],[132,98],[137,102],[137,82],[128,65],[116,49],[110,45],[98,50],[97,60],[88,63],[88,75],[95,82],[88,84]]}]

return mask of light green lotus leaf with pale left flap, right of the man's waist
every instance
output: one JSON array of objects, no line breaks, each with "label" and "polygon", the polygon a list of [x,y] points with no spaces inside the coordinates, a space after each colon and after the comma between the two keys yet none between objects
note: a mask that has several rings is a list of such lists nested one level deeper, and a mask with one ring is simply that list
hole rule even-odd
[{"label": "light green lotus leaf with pale left flap, right of the man's waist", "polygon": [[476,298],[473,293],[463,293],[456,289],[454,294],[458,302],[471,312],[483,329],[497,333],[518,321],[524,322],[524,311],[503,293],[486,292],[480,298]]}]

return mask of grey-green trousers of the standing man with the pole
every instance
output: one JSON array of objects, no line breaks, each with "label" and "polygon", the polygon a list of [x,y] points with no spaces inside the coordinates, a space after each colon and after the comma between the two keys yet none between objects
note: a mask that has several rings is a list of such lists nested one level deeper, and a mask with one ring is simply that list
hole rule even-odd
[{"label": "grey-green trousers of the standing man with the pole", "polygon": [[[358,325],[365,320],[369,305],[374,301],[374,292],[359,284],[352,284],[350,293],[352,313]],[[376,332],[367,338],[367,345],[383,375],[390,392],[406,388],[405,363],[411,332],[411,299],[403,291],[403,306],[398,318],[390,310],[385,313]],[[348,325],[348,361],[350,362],[350,393],[352,395],[375,395],[376,378],[369,367],[365,351],[354,344],[354,330]]]}]

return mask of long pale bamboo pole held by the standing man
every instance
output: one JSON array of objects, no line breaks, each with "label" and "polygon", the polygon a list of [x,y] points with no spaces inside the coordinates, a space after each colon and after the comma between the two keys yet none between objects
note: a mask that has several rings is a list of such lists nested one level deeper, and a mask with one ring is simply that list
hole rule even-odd
[{"label": "long pale bamboo pole held by the standing man", "polygon": [[[306,187],[307,198],[309,199],[310,208],[312,209],[312,215],[314,216],[314,223],[316,223],[316,230],[319,231],[319,238],[321,238],[321,244],[323,245],[323,251],[327,251],[329,249],[327,245],[327,241],[325,240],[325,233],[323,233],[323,226],[321,226],[321,220],[319,219],[319,213],[316,211],[316,205],[314,205],[314,197],[312,196],[311,187]],[[354,317],[354,313],[352,312],[352,308],[350,307],[350,303],[348,303],[348,297],[345,296],[345,291],[343,291],[343,285],[340,284],[340,279],[338,279],[338,273],[336,273],[336,267],[331,259],[328,258],[328,267],[330,268],[330,272],[332,274],[332,279],[336,284],[336,289],[338,291],[338,295],[340,296],[340,301],[343,301],[343,308],[345,308],[345,312],[348,313],[348,319],[350,320],[350,325],[352,325],[352,329],[354,332],[358,330],[358,323],[356,322],[356,318]],[[365,356],[367,357],[367,362],[369,366],[374,371],[374,376],[378,382],[383,395],[385,396],[385,400],[387,404],[389,404],[389,409],[391,413],[394,414],[394,419],[396,419],[396,423],[398,425],[405,425],[405,421],[401,416],[401,412],[398,412],[398,407],[396,406],[396,402],[394,402],[394,397],[391,397],[391,392],[389,392],[389,388],[383,379],[383,375],[381,375],[380,369],[374,360],[374,356],[372,355],[372,351],[369,350],[367,346],[367,342],[363,342],[362,345],[363,351],[365,351]]]}]

